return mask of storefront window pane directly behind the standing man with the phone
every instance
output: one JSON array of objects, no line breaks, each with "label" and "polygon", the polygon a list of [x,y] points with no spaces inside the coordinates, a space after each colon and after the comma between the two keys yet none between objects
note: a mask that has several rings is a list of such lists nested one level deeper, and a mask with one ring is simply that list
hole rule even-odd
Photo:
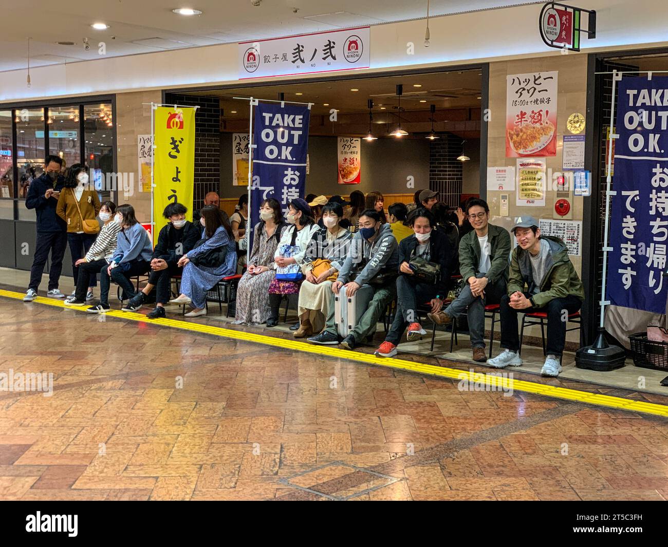
[{"label": "storefront window pane directly behind the standing man with the phone", "polygon": [[44,172],[44,109],[14,110],[14,120],[19,198],[25,199],[30,183]]}]

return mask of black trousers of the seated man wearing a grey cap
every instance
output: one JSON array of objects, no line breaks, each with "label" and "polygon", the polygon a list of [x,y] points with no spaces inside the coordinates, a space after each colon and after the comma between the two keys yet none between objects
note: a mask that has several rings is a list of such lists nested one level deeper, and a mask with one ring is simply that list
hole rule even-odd
[{"label": "black trousers of the seated man wearing a grey cap", "polygon": [[[524,293],[528,299],[531,295]],[[520,337],[517,327],[517,314],[535,313],[536,311],[544,311],[547,313],[547,355],[556,355],[559,357],[564,351],[566,344],[566,319],[571,313],[575,313],[582,306],[582,301],[578,297],[568,295],[565,298],[556,298],[550,300],[547,305],[542,308],[529,307],[523,310],[516,310],[510,307],[510,297],[503,295],[500,303],[500,317],[501,317],[501,347],[510,349],[510,351],[518,351],[520,349]],[[564,314],[566,311],[566,314]],[[565,317],[564,317],[565,316]]]}]

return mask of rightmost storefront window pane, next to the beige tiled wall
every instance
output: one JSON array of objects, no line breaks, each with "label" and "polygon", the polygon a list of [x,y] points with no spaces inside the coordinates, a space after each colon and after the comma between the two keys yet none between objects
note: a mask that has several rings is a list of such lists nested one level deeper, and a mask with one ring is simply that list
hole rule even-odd
[{"label": "rightmost storefront window pane, next to the beige tiled wall", "polygon": [[[85,161],[90,168],[91,179],[95,183],[100,199],[112,197],[112,181],[107,174],[114,172],[113,139],[114,120],[112,104],[87,104],[83,106],[83,138]],[[122,188],[120,188],[122,191]]]}]

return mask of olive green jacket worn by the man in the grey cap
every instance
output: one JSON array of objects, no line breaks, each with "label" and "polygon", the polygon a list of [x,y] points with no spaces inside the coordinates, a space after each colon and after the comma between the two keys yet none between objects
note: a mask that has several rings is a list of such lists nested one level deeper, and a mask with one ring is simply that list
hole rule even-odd
[{"label": "olive green jacket worn by the man in the grey cap", "polygon": [[[577,275],[570,258],[568,249],[562,240],[554,236],[540,236],[550,244],[545,277],[538,287],[539,293],[533,295],[532,299],[536,308],[546,306],[551,300],[564,298],[568,295],[585,300],[585,289],[582,281]],[[508,296],[516,291],[524,293],[524,286],[528,286],[528,292],[534,289],[533,270],[528,250],[516,246],[512,250],[510,258],[510,279],[508,280]]]}]

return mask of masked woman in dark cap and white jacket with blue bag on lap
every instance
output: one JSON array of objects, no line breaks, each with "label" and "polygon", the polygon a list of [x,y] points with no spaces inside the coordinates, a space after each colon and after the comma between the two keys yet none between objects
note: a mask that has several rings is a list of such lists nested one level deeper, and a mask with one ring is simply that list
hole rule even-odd
[{"label": "masked woman in dark cap and white jacket with blue bag on lap", "polygon": [[[283,237],[274,253],[273,268],[281,268],[277,274],[277,279],[269,285],[269,319],[267,327],[275,327],[279,323],[279,307],[283,295],[299,294],[299,285],[301,285],[299,271],[304,263],[306,248],[313,234],[319,230],[317,224],[313,223],[313,212],[305,200],[297,198],[290,202],[288,208],[287,222],[293,224],[283,232]],[[289,270],[295,272],[289,272]],[[283,272],[288,272],[287,277],[294,277],[294,281],[279,279]]]}]

